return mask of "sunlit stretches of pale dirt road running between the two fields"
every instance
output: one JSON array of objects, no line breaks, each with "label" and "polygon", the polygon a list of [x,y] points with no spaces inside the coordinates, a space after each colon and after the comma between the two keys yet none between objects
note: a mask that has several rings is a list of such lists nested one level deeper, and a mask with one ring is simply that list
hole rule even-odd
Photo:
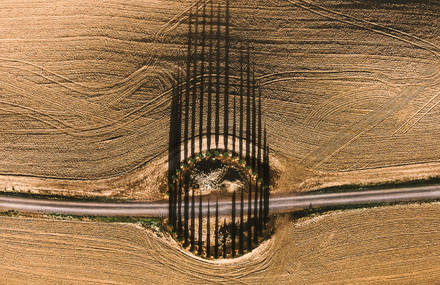
[{"label": "sunlit stretches of pale dirt road running between the two fields", "polygon": [[[317,208],[324,206],[432,200],[439,198],[440,186],[434,185],[331,194],[290,194],[287,196],[272,197],[269,207],[271,213],[282,213],[308,207]],[[214,213],[215,205],[214,203],[211,203],[211,205],[211,213]],[[244,209],[245,211],[247,210],[246,207],[247,206],[245,206]],[[198,207],[196,208],[198,209]],[[229,214],[231,208],[232,204],[230,201],[219,202],[219,213],[221,215]],[[168,215],[168,202],[74,202],[1,196],[0,209],[65,215],[166,217]],[[206,204],[202,211],[203,214],[206,215],[208,211]],[[198,215],[198,210],[196,210],[196,214]]]}]

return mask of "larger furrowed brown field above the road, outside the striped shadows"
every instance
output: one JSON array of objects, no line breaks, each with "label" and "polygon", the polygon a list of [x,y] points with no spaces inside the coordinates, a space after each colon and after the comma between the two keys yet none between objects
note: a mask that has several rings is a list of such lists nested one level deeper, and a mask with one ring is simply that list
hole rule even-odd
[{"label": "larger furrowed brown field above the road, outside the striped shadows", "polygon": [[[194,3],[3,1],[0,188],[161,198]],[[249,42],[274,191],[439,175],[439,14],[427,0],[231,2],[231,74]]]}]

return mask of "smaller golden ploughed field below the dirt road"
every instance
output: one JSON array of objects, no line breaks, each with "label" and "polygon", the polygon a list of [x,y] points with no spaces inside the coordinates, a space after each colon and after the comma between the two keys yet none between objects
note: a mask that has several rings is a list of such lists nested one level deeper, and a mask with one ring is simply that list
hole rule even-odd
[{"label": "smaller golden ploughed field below the dirt road", "polygon": [[132,224],[0,218],[4,284],[434,284],[440,204],[280,219],[235,261],[207,261]]}]

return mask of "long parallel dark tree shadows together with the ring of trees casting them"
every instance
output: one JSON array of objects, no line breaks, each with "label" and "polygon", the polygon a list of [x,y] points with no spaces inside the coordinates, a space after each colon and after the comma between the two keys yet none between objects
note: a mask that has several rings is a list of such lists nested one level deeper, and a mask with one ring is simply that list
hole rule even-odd
[{"label": "long parallel dark tree shadows together with the ring of trees casting them", "polygon": [[[169,125],[168,223],[183,247],[208,258],[251,251],[267,234],[269,222],[269,146],[262,89],[255,80],[249,45],[239,44],[238,60],[231,59],[230,3],[222,1],[198,2],[188,12],[185,71],[176,74],[172,85]],[[202,196],[189,165],[224,161],[223,156],[244,169],[248,183],[239,190],[239,202],[232,192],[231,212],[221,225],[218,196],[215,205],[209,195]]]}]

